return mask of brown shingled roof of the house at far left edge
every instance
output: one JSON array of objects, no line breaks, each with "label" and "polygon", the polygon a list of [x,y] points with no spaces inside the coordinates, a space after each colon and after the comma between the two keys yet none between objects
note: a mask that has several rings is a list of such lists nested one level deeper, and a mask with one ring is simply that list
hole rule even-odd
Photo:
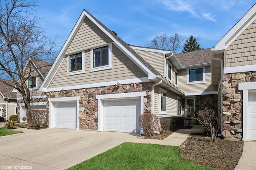
[{"label": "brown shingled roof of the house at far left edge", "polygon": [[0,79],[0,92],[3,95],[3,98],[16,98],[16,93],[12,92],[13,87],[8,86],[3,82],[14,85],[14,82],[11,80]]}]

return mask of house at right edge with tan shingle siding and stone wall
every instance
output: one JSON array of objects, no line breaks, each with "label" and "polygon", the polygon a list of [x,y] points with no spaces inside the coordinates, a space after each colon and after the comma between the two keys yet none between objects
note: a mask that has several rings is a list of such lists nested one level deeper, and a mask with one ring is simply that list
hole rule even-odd
[{"label": "house at right edge with tan shingle siding and stone wall", "polygon": [[256,140],[256,4],[212,48],[211,63],[223,137]]}]

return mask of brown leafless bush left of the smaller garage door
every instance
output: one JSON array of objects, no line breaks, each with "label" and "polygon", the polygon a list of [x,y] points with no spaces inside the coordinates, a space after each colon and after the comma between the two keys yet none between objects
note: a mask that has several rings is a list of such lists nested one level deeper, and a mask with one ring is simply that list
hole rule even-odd
[{"label": "brown leafless bush left of the smaller garage door", "polygon": [[28,110],[28,114],[31,117],[32,122],[37,127],[40,127],[44,124],[46,118],[46,110]]}]

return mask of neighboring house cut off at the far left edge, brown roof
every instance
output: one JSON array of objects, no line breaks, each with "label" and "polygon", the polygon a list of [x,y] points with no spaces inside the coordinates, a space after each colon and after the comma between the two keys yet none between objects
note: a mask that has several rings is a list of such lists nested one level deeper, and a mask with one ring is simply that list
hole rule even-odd
[{"label": "neighboring house cut off at the far left edge, brown roof", "polygon": [[[1,79],[0,81],[0,116],[9,120],[11,115],[16,115],[16,93],[12,92],[12,87],[4,84],[14,84],[11,80]],[[7,113],[7,114],[6,114]]]}]

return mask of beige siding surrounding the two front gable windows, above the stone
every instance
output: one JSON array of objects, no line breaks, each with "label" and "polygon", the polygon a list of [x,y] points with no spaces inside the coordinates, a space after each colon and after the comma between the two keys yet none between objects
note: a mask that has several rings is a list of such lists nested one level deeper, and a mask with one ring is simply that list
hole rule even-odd
[{"label": "beige siding surrounding the two front gable windows, above the stone", "polygon": [[88,49],[85,51],[85,73],[67,76],[67,59],[68,57],[66,57],[62,62],[48,88],[117,81],[148,76],[114,44],[112,45],[112,69],[90,72],[90,49]]}]

